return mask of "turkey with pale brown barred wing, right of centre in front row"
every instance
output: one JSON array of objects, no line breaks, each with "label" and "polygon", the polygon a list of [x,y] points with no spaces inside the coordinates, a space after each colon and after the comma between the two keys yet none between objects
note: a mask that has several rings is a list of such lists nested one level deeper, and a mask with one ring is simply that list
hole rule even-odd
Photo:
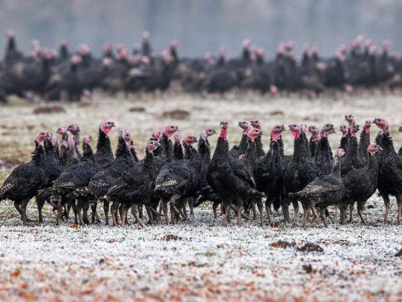
[{"label": "turkey with pale brown barred wing, right of centre in front row", "polygon": [[[338,204],[345,192],[345,186],[341,180],[341,157],[345,154],[343,149],[337,149],[332,171],[329,175],[322,175],[298,192],[290,193],[290,196],[297,196],[305,199],[313,210],[315,219],[313,225],[317,222],[319,216],[316,207],[320,210],[320,216],[325,226],[328,228],[328,222],[325,218],[325,209],[334,204]],[[303,226],[307,224],[309,210],[305,210]]]}]

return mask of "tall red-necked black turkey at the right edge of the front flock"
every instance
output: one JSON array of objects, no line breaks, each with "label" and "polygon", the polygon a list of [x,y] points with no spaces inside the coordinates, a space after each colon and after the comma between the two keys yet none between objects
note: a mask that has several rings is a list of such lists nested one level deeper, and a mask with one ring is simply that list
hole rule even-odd
[{"label": "tall red-necked black turkey at the right edge of the front flock", "polygon": [[400,224],[402,211],[402,160],[395,152],[392,137],[389,135],[389,125],[385,118],[375,118],[373,123],[381,129],[381,148],[377,153],[378,161],[378,191],[384,200],[384,223],[388,223],[389,195],[395,196],[398,205],[397,223]]}]

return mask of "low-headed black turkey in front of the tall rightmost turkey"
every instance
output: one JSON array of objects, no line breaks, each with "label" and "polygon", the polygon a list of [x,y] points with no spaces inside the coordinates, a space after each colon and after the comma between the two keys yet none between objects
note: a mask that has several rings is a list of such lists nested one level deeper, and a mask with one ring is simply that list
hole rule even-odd
[{"label": "low-headed black turkey in front of the tall rightmost turkey", "polygon": [[[345,186],[345,195],[341,201],[341,223],[345,221],[345,208],[351,205],[353,211],[353,204],[357,202],[357,213],[360,216],[361,222],[367,224],[363,217],[363,207],[377,190],[377,173],[378,163],[375,153],[381,150],[381,147],[375,143],[370,144],[367,152],[370,155],[367,165],[363,168],[352,170],[342,176],[342,182]],[[351,215],[352,217],[352,215]],[[349,222],[352,222],[349,220]]]}]

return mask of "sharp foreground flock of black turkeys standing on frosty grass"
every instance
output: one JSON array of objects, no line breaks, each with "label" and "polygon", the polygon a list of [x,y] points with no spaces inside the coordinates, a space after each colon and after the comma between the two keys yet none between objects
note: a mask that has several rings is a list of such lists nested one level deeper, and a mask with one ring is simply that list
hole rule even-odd
[{"label": "sharp foreground flock of black turkeys standing on frosty grass", "polygon": [[[321,130],[315,125],[291,123],[288,129],[294,137],[293,155],[284,155],[282,134],[286,128],[283,125],[272,127],[269,150],[264,153],[264,133],[259,120],[244,120],[238,124],[243,130],[240,143],[232,148],[226,138],[228,122],[220,122],[221,131],[212,158],[209,137],[217,134],[214,129],[202,130],[198,139],[192,135],[182,139],[180,129],[168,125],[154,131],[142,160],[137,157],[131,133],[125,129],[118,131],[118,145],[113,154],[109,138],[115,127],[112,121],[100,123],[95,153],[90,146],[91,135],[84,135],[81,154],[80,129],[71,124],[67,129],[58,128],[61,139],[54,143],[52,133],[38,132],[31,161],[15,168],[6,179],[0,189],[0,200],[14,201],[24,225],[36,221],[26,214],[28,202],[36,197],[38,221],[43,221],[42,208],[48,202],[57,210],[56,224],[68,219],[70,209],[77,224],[100,222],[96,213],[99,202],[103,203],[107,225],[109,210],[113,224],[124,226],[131,209],[136,222],[143,226],[143,206],[148,223],[164,217],[168,224],[168,206],[171,222],[177,223],[188,221],[187,205],[189,214],[193,215],[194,207],[211,201],[215,218],[221,205],[225,226],[232,210],[237,214],[238,225],[242,217],[257,220],[256,208],[264,225],[263,202],[270,224],[273,206],[275,211],[281,208],[284,220],[296,226],[300,203],[304,209],[303,226],[310,219],[315,225],[320,216],[328,226],[327,207],[339,207],[343,224],[348,207],[349,221],[352,221],[355,203],[362,223],[366,224],[362,211],[367,199],[378,189],[385,203],[384,222],[388,222],[389,196],[395,196],[400,224],[402,147],[395,152],[384,118],[366,120],[359,141],[360,127],[354,116],[347,114],[345,120],[347,125],[339,128],[342,138],[334,155],[328,142],[328,135],[335,133],[331,123]],[[371,123],[381,129],[376,143],[370,143]],[[311,133],[310,139],[307,132]],[[293,219],[289,215],[290,204],[294,208]]]}]

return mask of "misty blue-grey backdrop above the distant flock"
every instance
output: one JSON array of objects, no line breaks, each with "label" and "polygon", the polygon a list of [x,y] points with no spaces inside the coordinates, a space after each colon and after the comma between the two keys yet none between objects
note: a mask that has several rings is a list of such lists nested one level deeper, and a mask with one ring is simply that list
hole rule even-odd
[{"label": "misty blue-grey backdrop above the distant flock", "polygon": [[[318,46],[326,56],[341,43],[362,34],[376,43],[390,39],[402,49],[402,1],[397,0],[0,0],[0,30],[15,31],[23,51],[39,39],[57,48],[62,39],[70,48],[87,43],[99,55],[107,42],[132,48],[149,31],[156,52],[172,40],[181,56],[217,53],[226,46],[239,55],[249,38],[274,55],[278,42]],[[0,36],[0,48],[6,38]]]}]

